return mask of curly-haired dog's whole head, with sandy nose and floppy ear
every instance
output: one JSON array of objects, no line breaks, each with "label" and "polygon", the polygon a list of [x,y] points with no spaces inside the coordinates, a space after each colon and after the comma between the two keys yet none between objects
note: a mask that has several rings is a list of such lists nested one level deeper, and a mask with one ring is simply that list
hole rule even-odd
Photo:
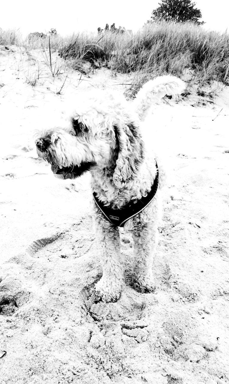
[{"label": "curly-haired dog's whole head, with sandy nose and floppy ear", "polygon": [[74,179],[87,170],[109,169],[111,182],[121,188],[134,179],[143,161],[138,123],[120,99],[84,108],[84,113],[74,112],[69,128],[49,129],[38,136],[38,155],[51,164],[58,178]]}]

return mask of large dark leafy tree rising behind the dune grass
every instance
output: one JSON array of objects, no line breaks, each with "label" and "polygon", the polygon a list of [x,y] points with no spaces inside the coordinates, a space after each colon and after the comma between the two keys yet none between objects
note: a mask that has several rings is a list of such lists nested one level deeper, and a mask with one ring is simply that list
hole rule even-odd
[{"label": "large dark leafy tree rising behind the dune grass", "polygon": [[199,22],[202,17],[201,11],[195,8],[196,3],[191,0],[161,0],[159,7],[153,10],[151,20],[163,18],[164,20],[174,20],[176,22],[194,22],[198,25],[204,24]]}]

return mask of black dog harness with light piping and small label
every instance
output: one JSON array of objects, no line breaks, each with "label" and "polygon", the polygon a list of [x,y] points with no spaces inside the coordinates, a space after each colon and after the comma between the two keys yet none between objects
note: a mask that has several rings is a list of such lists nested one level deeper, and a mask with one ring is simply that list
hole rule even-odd
[{"label": "black dog harness with light piping and small label", "polygon": [[153,185],[151,187],[150,192],[148,192],[147,196],[142,197],[142,199],[137,200],[136,202],[131,201],[127,205],[124,206],[122,209],[111,209],[109,207],[106,207],[96,196],[96,193],[93,192],[93,197],[95,200],[95,203],[99,210],[102,212],[104,217],[109,220],[110,223],[114,224],[117,227],[123,227],[124,224],[130,220],[130,218],[136,216],[140,212],[143,211],[154,199],[157,190],[158,190],[158,166],[156,162],[157,167],[157,174],[154,179]]}]

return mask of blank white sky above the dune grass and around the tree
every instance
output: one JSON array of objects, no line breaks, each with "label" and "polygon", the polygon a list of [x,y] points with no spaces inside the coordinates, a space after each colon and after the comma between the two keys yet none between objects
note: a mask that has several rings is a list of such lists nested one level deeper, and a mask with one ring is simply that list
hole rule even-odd
[{"label": "blank white sky above the dune grass and around the tree", "polygon": [[[115,23],[137,31],[150,19],[158,0],[3,0],[0,27],[20,28],[23,35],[56,28],[60,35],[95,31]],[[204,28],[225,31],[229,26],[228,0],[196,0]]]}]

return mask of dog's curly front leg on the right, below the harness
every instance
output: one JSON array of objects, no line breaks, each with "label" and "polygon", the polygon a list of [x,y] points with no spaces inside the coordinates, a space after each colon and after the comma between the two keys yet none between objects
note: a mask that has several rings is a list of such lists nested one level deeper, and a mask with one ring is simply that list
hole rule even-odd
[{"label": "dog's curly front leg on the right, below the harness", "polygon": [[133,241],[135,256],[133,262],[133,287],[143,293],[153,292],[156,288],[152,273],[153,254],[158,242],[157,222],[152,221],[143,212],[134,218]]}]

